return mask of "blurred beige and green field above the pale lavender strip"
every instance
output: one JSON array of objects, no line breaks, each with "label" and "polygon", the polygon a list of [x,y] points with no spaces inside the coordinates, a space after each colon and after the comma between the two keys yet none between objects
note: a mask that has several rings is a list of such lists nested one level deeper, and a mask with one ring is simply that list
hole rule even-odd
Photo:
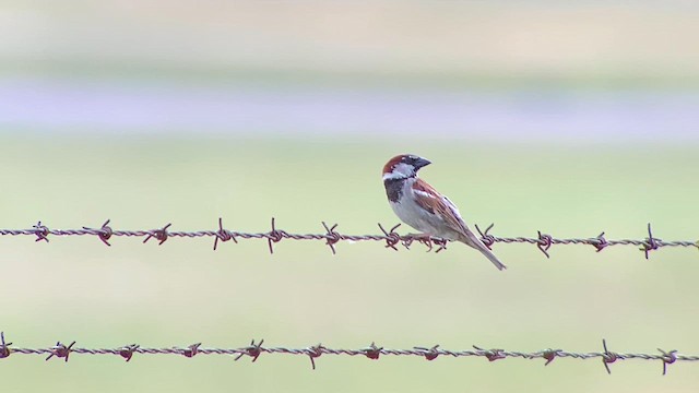
[{"label": "blurred beige and green field above the pale lavender strip", "polygon": [[696,88],[697,21],[684,0],[9,0],[0,75]]}]

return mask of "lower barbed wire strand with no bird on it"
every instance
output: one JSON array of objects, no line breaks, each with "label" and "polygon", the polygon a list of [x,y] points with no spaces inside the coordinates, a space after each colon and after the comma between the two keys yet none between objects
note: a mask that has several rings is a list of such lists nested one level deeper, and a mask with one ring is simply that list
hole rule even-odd
[{"label": "lower barbed wire strand with no bird on it", "polygon": [[50,360],[56,357],[58,359],[64,359],[68,361],[69,356],[71,354],[76,355],[117,355],[126,359],[126,361],[130,361],[133,358],[133,355],[178,355],[185,356],[188,358],[194,357],[196,355],[227,355],[235,356],[235,360],[240,360],[242,357],[249,357],[253,362],[262,354],[281,354],[281,355],[300,355],[308,356],[311,362],[311,367],[316,369],[316,359],[321,355],[336,355],[336,356],[364,356],[372,360],[378,360],[381,356],[412,356],[412,357],[423,357],[427,360],[435,360],[439,356],[447,357],[483,357],[489,361],[496,361],[500,359],[507,358],[519,358],[519,359],[543,359],[545,360],[544,366],[548,366],[556,358],[572,358],[577,360],[588,360],[588,359],[601,359],[604,368],[607,373],[612,373],[609,365],[617,360],[631,360],[631,359],[642,359],[642,360],[654,360],[662,361],[663,365],[663,376],[667,373],[667,365],[672,365],[676,361],[699,361],[699,355],[683,355],[679,354],[676,349],[673,350],[663,350],[657,349],[660,354],[643,354],[643,353],[615,353],[607,349],[607,343],[605,340],[602,340],[602,352],[589,352],[589,353],[576,353],[568,352],[564,349],[542,349],[535,352],[517,352],[517,350],[506,350],[506,349],[486,349],[479,346],[473,345],[473,349],[466,350],[449,350],[440,348],[439,345],[434,345],[431,347],[420,347],[415,346],[411,349],[389,349],[371,343],[371,345],[358,348],[358,349],[337,349],[330,348],[323,346],[322,344],[317,344],[313,346],[305,347],[305,348],[289,348],[289,347],[270,347],[262,346],[264,340],[260,340],[260,342],[256,343],[254,340],[250,342],[250,345],[246,345],[238,348],[206,348],[202,347],[201,343],[191,344],[185,347],[167,347],[167,348],[149,348],[142,347],[138,344],[130,344],[115,348],[81,348],[75,347],[75,342],[73,341],[69,345],[62,344],[60,341],[56,343],[56,345],[46,347],[46,348],[22,348],[22,347],[13,347],[13,343],[7,343],[4,341],[4,333],[0,333],[1,342],[0,342],[0,359],[9,358],[11,355],[21,354],[21,355],[48,355],[46,360]]}]

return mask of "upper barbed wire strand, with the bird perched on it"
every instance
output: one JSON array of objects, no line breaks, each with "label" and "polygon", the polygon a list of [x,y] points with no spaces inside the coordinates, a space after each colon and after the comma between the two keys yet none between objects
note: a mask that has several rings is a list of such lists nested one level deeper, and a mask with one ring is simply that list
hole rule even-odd
[{"label": "upper barbed wire strand, with the bird perched on it", "polygon": [[[450,240],[440,239],[436,237],[425,237],[420,235],[400,235],[395,231],[401,224],[393,226],[390,229],[386,229],[380,223],[378,224],[379,229],[381,229],[382,235],[346,235],[336,231],[337,224],[329,226],[324,222],[322,222],[322,226],[325,229],[322,234],[291,234],[286,230],[277,229],[275,226],[275,219],[272,217],[272,228],[270,231],[262,233],[245,233],[237,230],[229,230],[223,227],[223,219],[218,218],[218,229],[217,230],[194,230],[194,231],[178,231],[178,230],[168,230],[168,228],[173,225],[167,224],[162,228],[156,229],[137,229],[137,230],[121,230],[114,229],[109,226],[110,221],[107,219],[102,227],[99,228],[91,228],[91,227],[82,227],[81,229],[49,229],[46,225],[43,225],[42,222],[38,222],[36,225],[32,226],[31,229],[0,229],[0,235],[3,236],[36,236],[35,241],[49,241],[49,236],[95,236],[102,242],[107,246],[111,246],[109,240],[112,237],[137,237],[144,238],[143,242],[147,242],[151,239],[155,239],[158,241],[158,245],[163,245],[166,240],[170,238],[201,238],[201,237],[211,237],[214,239],[214,251],[218,247],[218,241],[228,241],[233,240],[234,242],[238,242],[238,239],[266,239],[269,245],[270,253],[274,253],[274,243],[282,241],[283,239],[288,240],[321,240],[324,241],[328,247],[332,250],[334,254],[336,252],[335,245],[340,241],[380,241],[386,242],[386,248],[391,248],[398,251],[396,246],[403,245],[406,249],[413,245],[413,242],[417,241],[427,247],[427,251],[431,251],[434,246],[437,246],[436,252],[447,249],[447,245]],[[649,257],[649,252],[653,250],[657,250],[661,247],[692,247],[699,249],[699,240],[689,241],[689,240],[675,240],[675,241],[664,241],[660,238],[653,236],[651,230],[651,224],[648,224],[648,237],[642,240],[636,239],[618,239],[618,240],[607,240],[604,236],[604,231],[597,235],[596,237],[591,238],[554,238],[553,236],[542,233],[537,230],[536,237],[497,237],[491,235],[489,231],[493,229],[494,224],[490,224],[485,230],[481,230],[481,228],[476,225],[478,234],[481,234],[481,240],[488,247],[491,248],[493,245],[502,242],[502,243],[530,243],[535,245],[538,250],[541,250],[546,258],[550,258],[548,250],[554,245],[589,245],[596,249],[597,252],[604,250],[607,247],[612,246],[637,246],[640,247],[640,250],[644,252],[645,259]]]}]

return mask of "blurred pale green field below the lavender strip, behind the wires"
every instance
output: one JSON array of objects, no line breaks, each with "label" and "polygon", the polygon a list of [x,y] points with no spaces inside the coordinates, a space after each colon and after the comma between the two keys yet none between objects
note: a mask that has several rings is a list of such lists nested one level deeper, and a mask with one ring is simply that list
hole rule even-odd
[{"label": "blurred pale green field below the lavender strip, behind the wires", "polygon": [[[393,224],[379,168],[404,151],[431,158],[424,177],[472,223],[497,223],[502,236],[642,238],[652,222],[663,239],[695,239],[697,146],[577,148],[476,145],[388,139],[131,139],[3,136],[2,227],[98,226],[173,229],[281,228],[317,233],[321,221],[345,233]],[[79,346],[238,347],[323,343],[391,348],[472,344],[516,350],[546,347],[699,353],[694,299],[696,250],[663,249],[645,261],[633,248],[595,253],[554,247],[497,246],[510,270],[499,274],[470,249],[393,252],[378,243],[173,239],[158,247],[114,239],[2,238],[2,326],[16,346],[56,341]],[[696,365],[625,361],[606,376],[599,361],[517,359],[74,356],[68,365],[13,355],[2,364],[8,391],[358,390],[542,392],[692,391]],[[42,378],[35,378],[40,374]]]}]

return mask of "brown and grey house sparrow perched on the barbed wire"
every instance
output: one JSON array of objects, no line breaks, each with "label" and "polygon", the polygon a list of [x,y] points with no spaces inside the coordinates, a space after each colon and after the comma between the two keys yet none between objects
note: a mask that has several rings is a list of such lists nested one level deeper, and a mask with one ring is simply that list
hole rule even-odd
[{"label": "brown and grey house sparrow perched on the barbed wire", "polygon": [[423,157],[403,154],[383,166],[383,186],[395,215],[425,236],[461,241],[481,251],[497,269],[507,269],[469,229],[457,206],[417,178],[419,168],[429,164]]}]

